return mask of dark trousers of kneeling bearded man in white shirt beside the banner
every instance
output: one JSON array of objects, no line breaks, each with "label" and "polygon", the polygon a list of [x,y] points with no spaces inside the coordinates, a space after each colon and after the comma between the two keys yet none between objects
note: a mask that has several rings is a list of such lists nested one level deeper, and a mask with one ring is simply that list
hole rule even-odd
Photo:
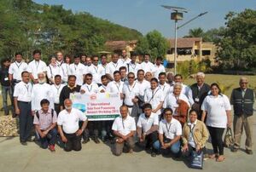
[{"label": "dark trousers of kneeling bearded man in white shirt beside the banner", "polygon": [[67,152],[70,151],[80,151],[82,149],[81,145],[81,135],[74,134],[66,134],[64,133],[65,137],[67,138],[67,143],[64,144],[64,150]]}]

